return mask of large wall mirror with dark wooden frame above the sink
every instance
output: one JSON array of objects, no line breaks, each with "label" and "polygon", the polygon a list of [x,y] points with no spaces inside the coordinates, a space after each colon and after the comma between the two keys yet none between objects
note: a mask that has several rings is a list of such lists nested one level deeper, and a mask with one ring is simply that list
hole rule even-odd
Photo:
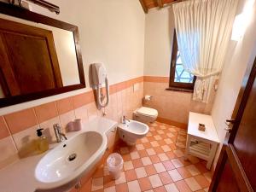
[{"label": "large wall mirror with dark wooden frame above the sink", "polygon": [[84,87],[78,27],[0,3],[0,108]]}]

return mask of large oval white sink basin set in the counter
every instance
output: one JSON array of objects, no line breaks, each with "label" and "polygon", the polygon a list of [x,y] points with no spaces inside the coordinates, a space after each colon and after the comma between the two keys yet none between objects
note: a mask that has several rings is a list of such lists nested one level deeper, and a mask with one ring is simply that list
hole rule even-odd
[{"label": "large oval white sink basin set in the counter", "polygon": [[102,158],[106,143],[102,134],[87,131],[52,149],[38,162],[35,170],[39,189],[63,191],[78,183],[79,178]]}]

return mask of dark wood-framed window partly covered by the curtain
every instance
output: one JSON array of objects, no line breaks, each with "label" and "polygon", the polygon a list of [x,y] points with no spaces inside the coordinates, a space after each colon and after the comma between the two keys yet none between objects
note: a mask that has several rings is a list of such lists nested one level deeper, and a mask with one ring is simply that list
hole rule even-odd
[{"label": "dark wood-framed window partly covered by the curtain", "polygon": [[172,45],[172,61],[170,70],[170,90],[193,90],[195,84],[195,76],[184,70],[180,53],[177,48],[176,31],[173,35]]}]

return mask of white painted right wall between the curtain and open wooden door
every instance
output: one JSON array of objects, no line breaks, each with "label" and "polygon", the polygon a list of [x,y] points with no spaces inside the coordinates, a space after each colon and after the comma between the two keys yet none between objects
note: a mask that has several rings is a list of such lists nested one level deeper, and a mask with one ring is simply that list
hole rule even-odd
[{"label": "white painted right wall between the curtain and open wooden door", "polygon": [[[240,1],[239,7],[243,7],[246,0]],[[239,10],[241,10],[239,8]],[[237,12],[240,13],[240,12]],[[221,143],[224,142],[226,131],[224,124],[226,119],[230,119],[235,108],[236,99],[241,88],[241,82],[248,63],[252,63],[256,56],[256,5],[253,7],[253,17],[247,27],[245,35],[238,42],[231,42],[230,49],[226,56],[223,72],[219,79],[218,91],[212,107],[212,119],[218,131]],[[220,152],[222,144],[218,149]],[[218,155],[217,155],[218,157]],[[217,159],[214,161],[215,167]]]}]

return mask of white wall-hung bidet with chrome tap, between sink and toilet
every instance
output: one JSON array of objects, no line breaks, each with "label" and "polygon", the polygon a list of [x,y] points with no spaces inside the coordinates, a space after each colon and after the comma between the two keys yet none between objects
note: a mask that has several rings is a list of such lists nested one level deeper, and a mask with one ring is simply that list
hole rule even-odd
[{"label": "white wall-hung bidet with chrome tap, between sink and toilet", "polygon": [[137,139],[146,137],[149,127],[136,120],[125,120],[118,125],[119,137],[128,145],[135,145]]}]

